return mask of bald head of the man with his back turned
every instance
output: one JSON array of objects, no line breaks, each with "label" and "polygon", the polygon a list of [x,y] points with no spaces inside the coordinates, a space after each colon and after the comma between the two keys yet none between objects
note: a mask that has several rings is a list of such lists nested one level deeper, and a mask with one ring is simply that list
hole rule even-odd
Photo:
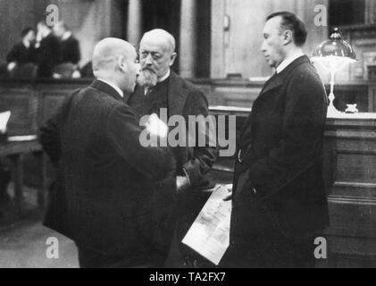
[{"label": "bald head of the man with his back turned", "polygon": [[138,74],[134,46],[120,38],[104,38],[94,48],[93,72],[96,78],[130,91]]}]

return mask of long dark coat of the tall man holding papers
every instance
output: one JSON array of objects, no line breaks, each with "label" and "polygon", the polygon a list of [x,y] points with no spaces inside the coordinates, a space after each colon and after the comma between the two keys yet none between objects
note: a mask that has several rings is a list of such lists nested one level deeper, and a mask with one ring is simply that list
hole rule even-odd
[{"label": "long dark coat of the tall man holding papers", "polygon": [[306,56],[265,83],[238,142],[243,161],[235,167],[232,243],[252,244],[271,228],[299,238],[328,225],[322,179],[327,105]]}]

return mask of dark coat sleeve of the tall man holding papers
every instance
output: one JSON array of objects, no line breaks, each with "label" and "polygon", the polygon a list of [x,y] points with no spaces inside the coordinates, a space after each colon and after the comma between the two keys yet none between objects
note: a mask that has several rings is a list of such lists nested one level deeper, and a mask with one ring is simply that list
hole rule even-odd
[{"label": "dark coat sleeve of the tall man holding papers", "polygon": [[320,156],[327,110],[325,97],[321,80],[312,74],[299,74],[289,82],[282,139],[248,170],[252,185],[258,192],[261,190],[260,196],[280,189],[288,178],[295,177]]}]

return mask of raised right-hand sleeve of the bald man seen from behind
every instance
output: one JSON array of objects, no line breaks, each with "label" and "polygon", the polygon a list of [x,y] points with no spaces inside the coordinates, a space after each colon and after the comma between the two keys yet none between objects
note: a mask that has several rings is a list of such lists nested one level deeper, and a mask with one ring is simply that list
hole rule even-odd
[{"label": "raised right-hand sleeve of the bald man seen from behind", "polygon": [[142,147],[142,132],[137,116],[130,107],[116,107],[107,122],[107,138],[110,144],[128,164],[149,178],[160,181],[174,171],[168,147]]}]

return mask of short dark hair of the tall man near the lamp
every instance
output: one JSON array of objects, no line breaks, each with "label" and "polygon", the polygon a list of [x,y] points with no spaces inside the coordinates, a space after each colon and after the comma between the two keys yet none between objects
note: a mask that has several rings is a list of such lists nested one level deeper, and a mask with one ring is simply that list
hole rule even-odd
[{"label": "short dark hair of the tall man near the lamp", "polygon": [[289,12],[272,13],[268,16],[266,21],[275,17],[281,17],[282,22],[280,24],[282,29],[289,29],[293,33],[294,42],[297,46],[305,45],[307,39],[307,30],[305,29],[305,23],[297,18],[297,15]]}]

